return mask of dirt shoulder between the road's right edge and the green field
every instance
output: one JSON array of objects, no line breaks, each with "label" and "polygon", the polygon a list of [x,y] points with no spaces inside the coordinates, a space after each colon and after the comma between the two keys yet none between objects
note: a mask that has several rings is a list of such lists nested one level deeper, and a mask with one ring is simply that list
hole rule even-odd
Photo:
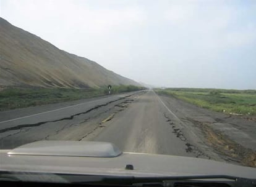
[{"label": "dirt shoulder between the road's right edge and the green field", "polygon": [[160,97],[181,121],[200,130],[198,136],[211,151],[228,162],[256,167],[256,117],[231,116],[171,96]]}]

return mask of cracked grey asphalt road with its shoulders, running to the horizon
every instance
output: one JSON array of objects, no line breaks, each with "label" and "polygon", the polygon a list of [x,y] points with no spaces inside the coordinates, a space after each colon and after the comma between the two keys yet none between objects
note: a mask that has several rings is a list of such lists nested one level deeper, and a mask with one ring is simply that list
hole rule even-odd
[{"label": "cracked grey asphalt road with its shoulders, running to the horizon", "polygon": [[[241,122],[249,130],[234,126]],[[218,129],[220,124],[222,127]],[[223,142],[218,137],[215,142],[216,130],[226,136]],[[123,151],[202,157],[246,165],[240,155],[234,159],[220,145],[226,146],[226,140],[230,139],[228,143],[232,146],[242,145],[242,152],[251,150],[254,154],[254,135],[255,122],[244,119],[234,122],[233,117],[156,95],[153,90],[0,113],[1,149],[36,140],[110,141]]]}]

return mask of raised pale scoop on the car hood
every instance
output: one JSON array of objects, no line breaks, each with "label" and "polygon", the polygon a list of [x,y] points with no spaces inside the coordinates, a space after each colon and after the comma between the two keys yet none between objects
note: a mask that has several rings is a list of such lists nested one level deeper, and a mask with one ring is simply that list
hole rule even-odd
[{"label": "raised pale scoop on the car hood", "polygon": [[100,141],[35,141],[12,149],[9,155],[116,157],[122,152]]}]

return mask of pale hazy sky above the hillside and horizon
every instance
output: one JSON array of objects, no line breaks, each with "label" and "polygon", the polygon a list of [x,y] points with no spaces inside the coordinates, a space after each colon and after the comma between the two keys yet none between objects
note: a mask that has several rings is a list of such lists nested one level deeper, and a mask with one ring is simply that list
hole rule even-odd
[{"label": "pale hazy sky above the hillside and horizon", "polygon": [[256,89],[256,1],[0,0],[1,17],[135,81]]}]

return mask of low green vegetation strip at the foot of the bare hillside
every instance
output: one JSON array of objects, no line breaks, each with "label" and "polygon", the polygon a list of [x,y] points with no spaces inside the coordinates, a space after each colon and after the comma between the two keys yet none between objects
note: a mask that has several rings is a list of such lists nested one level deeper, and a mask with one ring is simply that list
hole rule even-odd
[{"label": "low green vegetation strip at the foot of the bare hillside", "polygon": [[[113,86],[112,94],[145,89],[137,86]],[[107,88],[100,89],[46,89],[46,88],[12,88],[0,91],[0,111],[28,106],[60,103],[107,95]]]}]

